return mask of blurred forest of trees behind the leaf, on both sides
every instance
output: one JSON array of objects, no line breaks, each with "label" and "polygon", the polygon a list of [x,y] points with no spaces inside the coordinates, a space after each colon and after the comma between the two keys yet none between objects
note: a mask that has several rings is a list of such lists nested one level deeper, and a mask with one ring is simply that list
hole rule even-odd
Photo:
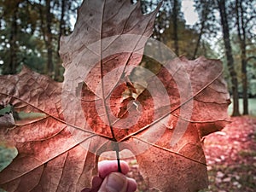
[{"label": "blurred forest of trees behind the leaf, on both sides", "polygon": [[[195,10],[184,10],[185,1],[194,3]],[[81,2],[0,0],[0,74],[18,73],[26,65],[61,81],[60,38],[72,32]],[[159,2],[142,0],[143,14]],[[184,11],[198,15],[193,25]],[[153,38],[176,55],[223,61],[233,116],[250,113],[250,104],[256,106],[256,0],[166,0],[155,20]]]}]

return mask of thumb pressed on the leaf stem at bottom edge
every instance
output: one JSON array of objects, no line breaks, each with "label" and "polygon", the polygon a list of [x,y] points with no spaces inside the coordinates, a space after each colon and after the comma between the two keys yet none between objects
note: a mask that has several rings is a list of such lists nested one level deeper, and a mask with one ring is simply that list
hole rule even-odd
[{"label": "thumb pressed on the leaf stem at bottom edge", "polygon": [[127,178],[119,172],[111,172],[105,177],[98,192],[126,192]]}]

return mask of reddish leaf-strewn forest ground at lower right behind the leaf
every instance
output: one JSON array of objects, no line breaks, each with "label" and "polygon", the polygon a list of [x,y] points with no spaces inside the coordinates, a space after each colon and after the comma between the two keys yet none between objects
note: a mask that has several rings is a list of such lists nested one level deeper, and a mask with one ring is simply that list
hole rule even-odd
[{"label": "reddish leaf-strewn forest ground at lower right behind the leaf", "polygon": [[[256,117],[232,118],[230,125],[207,136],[204,143],[209,187],[201,192],[256,191]],[[136,160],[130,165],[128,175],[137,180],[137,191],[150,191]]]}]

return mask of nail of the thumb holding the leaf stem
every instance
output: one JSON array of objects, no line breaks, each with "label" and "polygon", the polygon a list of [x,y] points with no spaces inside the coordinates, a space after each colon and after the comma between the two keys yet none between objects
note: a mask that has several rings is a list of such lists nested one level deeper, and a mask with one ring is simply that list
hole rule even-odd
[{"label": "nail of the thumb holding the leaf stem", "polygon": [[108,176],[106,189],[108,192],[120,192],[126,190],[127,180],[121,173],[112,172]]}]

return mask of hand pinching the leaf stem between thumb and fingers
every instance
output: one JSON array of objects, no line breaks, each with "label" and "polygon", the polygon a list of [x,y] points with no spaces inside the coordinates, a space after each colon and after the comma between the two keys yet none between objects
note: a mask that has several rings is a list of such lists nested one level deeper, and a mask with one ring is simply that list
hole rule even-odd
[{"label": "hand pinching the leaf stem between thumb and fingers", "polygon": [[125,176],[129,172],[128,164],[121,160],[120,166],[122,173],[118,172],[116,160],[99,162],[99,176],[93,177],[92,188],[81,192],[134,192],[137,189],[136,181]]}]

